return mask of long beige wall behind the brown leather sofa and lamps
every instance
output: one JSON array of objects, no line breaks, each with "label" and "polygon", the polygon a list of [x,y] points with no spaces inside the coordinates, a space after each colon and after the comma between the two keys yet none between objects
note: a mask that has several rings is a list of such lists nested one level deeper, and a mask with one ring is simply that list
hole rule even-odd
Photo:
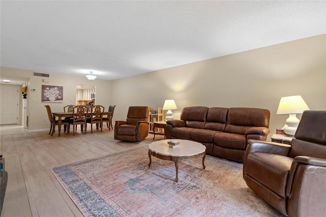
[{"label": "long beige wall behind the brown leather sofa and lamps", "polygon": [[113,80],[114,119],[124,120],[129,105],[161,107],[165,99],[175,100],[175,119],[186,106],[260,107],[271,113],[270,137],[288,117],[276,115],[282,96],[326,110],[325,36]]}]

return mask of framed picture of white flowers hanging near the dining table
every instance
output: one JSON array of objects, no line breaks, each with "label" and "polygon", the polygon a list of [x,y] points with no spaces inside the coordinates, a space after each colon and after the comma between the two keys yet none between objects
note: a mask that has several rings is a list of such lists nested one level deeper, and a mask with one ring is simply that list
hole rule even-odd
[{"label": "framed picture of white flowers hanging near the dining table", "polygon": [[63,87],[42,85],[42,102],[63,102]]}]

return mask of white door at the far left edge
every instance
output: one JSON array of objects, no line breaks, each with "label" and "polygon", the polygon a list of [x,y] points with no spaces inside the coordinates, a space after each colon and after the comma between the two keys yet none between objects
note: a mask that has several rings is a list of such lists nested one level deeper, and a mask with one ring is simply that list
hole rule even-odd
[{"label": "white door at the far left edge", "polygon": [[18,123],[18,87],[0,86],[0,124]]}]

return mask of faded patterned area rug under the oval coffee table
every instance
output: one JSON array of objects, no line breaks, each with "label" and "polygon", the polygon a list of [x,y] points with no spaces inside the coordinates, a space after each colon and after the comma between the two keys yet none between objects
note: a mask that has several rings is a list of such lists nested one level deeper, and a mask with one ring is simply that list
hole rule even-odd
[{"label": "faded patterned area rug under the oval coffee table", "polygon": [[174,162],[148,163],[144,146],[51,171],[85,216],[283,216],[247,187],[242,164],[183,161],[175,182]]}]

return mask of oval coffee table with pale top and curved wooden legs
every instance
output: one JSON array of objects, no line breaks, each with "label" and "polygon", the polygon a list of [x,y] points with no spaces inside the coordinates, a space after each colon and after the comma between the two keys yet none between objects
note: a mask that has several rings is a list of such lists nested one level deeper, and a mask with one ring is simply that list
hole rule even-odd
[{"label": "oval coffee table with pale top and curved wooden legs", "polygon": [[174,161],[176,171],[176,182],[179,181],[179,162],[181,162],[182,160],[194,160],[203,157],[203,168],[205,169],[204,160],[206,156],[206,147],[204,145],[189,140],[176,140],[180,142],[179,147],[169,148],[168,141],[170,140],[159,140],[148,145],[148,167],[151,167],[152,156],[162,160]]}]

